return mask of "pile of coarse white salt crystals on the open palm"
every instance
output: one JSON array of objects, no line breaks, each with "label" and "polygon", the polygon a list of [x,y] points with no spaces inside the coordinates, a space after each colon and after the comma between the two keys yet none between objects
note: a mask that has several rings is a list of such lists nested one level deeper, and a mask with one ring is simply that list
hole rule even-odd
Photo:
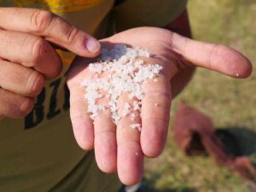
[{"label": "pile of coarse white salt crystals on the open palm", "polygon": [[[133,49],[125,44],[117,44],[113,49],[102,49],[98,61],[90,63],[89,69],[95,74],[95,78],[84,79],[81,85],[86,90],[84,96],[88,102],[91,119],[95,119],[103,110],[110,109],[113,123],[118,125],[122,117],[130,116],[131,120],[134,120],[141,114],[143,82],[154,79],[162,67],[158,64],[145,64],[143,60],[138,60],[138,57],[150,57],[150,54],[141,48]],[[124,94],[128,95],[131,101],[124,102],[122,113],[118,113],[119,96]],[[98,104],[97,100],[103,97],[108,98],[108,103]],[[141,125],[138,123],[131,124],[130,127],[141,131]]]}]

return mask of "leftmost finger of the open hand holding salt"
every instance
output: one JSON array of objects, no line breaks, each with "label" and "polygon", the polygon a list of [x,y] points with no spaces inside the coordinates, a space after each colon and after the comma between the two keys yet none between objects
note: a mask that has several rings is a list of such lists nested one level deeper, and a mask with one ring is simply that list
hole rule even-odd
[{"label": "leftmost finger of the open hand holding salt", "polygon": [[[77,75],[84,68],[83,65],[77,65],[74,61],[71,70],[67,74],[67,86],[70,91],[70,118],[73,125],[74,137],[80,148],[90,150],[94,148],[94,129],[93,121],[90,119],[90,113],[87,112],[88,103],[84,98],[84,88],[81,87],[84,75]],[[73,79],[73,76],[76,79]]]}]

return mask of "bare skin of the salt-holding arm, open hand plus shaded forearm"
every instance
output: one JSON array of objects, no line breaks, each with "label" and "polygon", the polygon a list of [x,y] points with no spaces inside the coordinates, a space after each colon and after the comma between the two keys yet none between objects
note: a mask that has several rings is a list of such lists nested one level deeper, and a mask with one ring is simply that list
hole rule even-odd
[{"label": "bare skin of the salt-holding arm, open hand plus shaded forearm", "polygon": [[[191,38],[191,31],[186,10],[176,20],[170,22],[164,28],[171,32],[156,28],[137,28],[123,32],[125,30],[117,26],[117,32],[120,32],[120,34],[103,40],[103,42],[110,41],[113,42],[113,44],[125,43],[142,46],[148,49],[149,52],[152,51],[150,47],[158,47],[158,55],[161,55],[160,53],[163,52],[169,53],[169,58],[166,59],[166,61],[148,61],[162,63],[166,66],[172,65],[174,67],[172,68],[172,75],[165,75],[165,80],[161,81],[162,84],[160,87],[162,87],[162,90],[160,92],[162,96],[159,98],[160,101],[157,101],[157,99],[154,101],[160,103],[162,101],[166,102],[161,104],[165,105],[167,110],[163,109],[160,112],[165,112],[165,116],[160,117],[158,116],[160,113],[156,114],[155,111],[152,112],[152,110],[155,110],[155,108],[152,109],[152,101],[151,103],[143,102],[145,103],[145,108],[149,108],[149,116],[151,112],[155,114],[150,118],[159,120],[156,120],[156,122],[150,122],[149,120],[149,122],[147,122],[147,120],[145,120],[147,114],[144,114],[142,116],[144,121],[142,119],[143,131],[141,134],[129,128],[125,131],[124,129],[116,129],[110,120],[109,112],[101,114],[102,116],[100,115],[98,119],[96,119],[95,125],[93,126],[92,120],[88,115],[84,114],[87,103],[84,101],[84,98],[81,98],[84,95],[84,90],[79,86],[80,81],[86,78],[86,74],[84,73],[89,73],[86,65],[84,66],[84,63],[88,64],[89,61],[77,58],[69,73],[68,85],[71,90],[71,119],[73,121],[74,135],[80,147],[86,150],[95,148],[96,162],[100,169],[103,172],[117,171],[120,180],[125,184],[137,183],[143,176],[143,156],[156,157],[163,150],[166,143],[168,125],[166,121],[169,120],[171,99],[177,96],[185,85],[189,83],[189,80],[195,72],[195,66],[206,67],[230,75],[231,77],[236,77],[238,73],[240,75],[238,78],[249,76],[252,70],[250,61],[234,49],[227,48],[223,45],[189,40],[188,38]],[[173,35],[172,32],[177,32],[187,38]],[[147,45],[148,39],[142,35],[145,33],[148,35],[146,35],[148,39],[157,39],[154,44],[149,47]],[[163,39],[162,37],[165,38]],[[137,39],[143,40],[140,42]],[[157,41],[159,41],[159,43],[157,43]],[[149,44],[152,44],[152,42],[149,42]],[[169,48],[167,48],[168,50],[160,51],[163,47]],[[164,56],[164,58],[165,57],[166,56]],[[148,91],[150,92],[151,89],[154,92],[154,83],[153,86],[148,87]],[[73,93],[76,93],[76,95]],[[158,93],[155,94],[159,96]],[[81,103],[84,103],[84,105]],[[138,119],[138,121],[140,121],[140,119]],[[103,125],[101,125],[100,122],[104,122]],[[157,129],[157,127],[159,129]],[[105,151],[105,153],[102,153],[102,151]],[[140,151],[138,159],[134,158],[134,154],[136,154],[137,151]]]}]

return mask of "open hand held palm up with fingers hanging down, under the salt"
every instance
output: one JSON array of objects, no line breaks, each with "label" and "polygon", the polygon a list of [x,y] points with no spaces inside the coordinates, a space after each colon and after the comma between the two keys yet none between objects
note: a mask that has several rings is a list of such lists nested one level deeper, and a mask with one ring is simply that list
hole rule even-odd
[{"label": "open hand held palm up with fingers hanging down, under the salt", "polygon": [[[90,77],[88,64],[92,60],[76,58],[68,73],[70,113],[79,146],[87,150],[95,148],[99,168],[103,172],[117,170],[121,182],[128,185],[141,179],[143,157],[156,157],[165,146],[172,102],[170,81],[183,67],[205,67],[235,78],[246,78],[252,70],[250,61],[234,49],[197,42],[160,28],[140,27],[120,32],[102,40],[103,47],[108,44],[147,49],[154,57],[145,61],[163,67],[157,82],[148,80],[143,84],[142,115],[137,119],[142,122],[141,132],[131,129],[131,122],[125,118],[118,125],[124,128],[116,128],[108,110],[94,122],[90,119],[80,84]],[[155,108],[154,103],[159,107]]]}]

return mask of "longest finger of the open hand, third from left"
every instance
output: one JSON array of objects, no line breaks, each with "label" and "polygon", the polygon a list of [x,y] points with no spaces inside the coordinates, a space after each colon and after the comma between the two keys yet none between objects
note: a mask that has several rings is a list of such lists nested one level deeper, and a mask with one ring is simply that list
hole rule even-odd
[{"label": "longest finger of the open hand, third from left", "polygon": [[[119,98],[119,102],[127,101],[124,97]],[[121,104],[122,105],[122,104]],[[119,107],[121,119],[117,126],[117,145],[118,145],[118,174],[119,179],[126,185],[139,182],[143,177],[143,152],[140,144],[140,132],[131,129],[132,124],[141,124],[141,120],[136,115],[132,119],[130,114],[123,116],[122,109]]]}]

